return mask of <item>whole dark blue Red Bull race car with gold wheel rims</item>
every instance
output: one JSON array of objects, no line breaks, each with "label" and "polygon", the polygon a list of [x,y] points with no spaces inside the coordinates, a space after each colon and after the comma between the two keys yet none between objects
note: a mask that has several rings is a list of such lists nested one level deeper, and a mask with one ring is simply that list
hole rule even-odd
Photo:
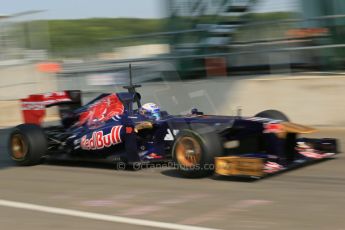
[{"label": "whole dark blue Red Bull race car with gold wheel rims", "polygon": [[[253,117],[205,115],[197,109],[170,115],[153,103],[141,105],[137,87],[102,94],[83,106],[80,91],[22,99],[24,124],[10,135],[11,158],[24,166],[54,156],[128,167],[169,161],[186,177],[260,178],[338,152],[335,139],[298,137],[316,130],[289,122],[276,110]],[[58,106],[61,124],[43,126],[51,106]]]}]

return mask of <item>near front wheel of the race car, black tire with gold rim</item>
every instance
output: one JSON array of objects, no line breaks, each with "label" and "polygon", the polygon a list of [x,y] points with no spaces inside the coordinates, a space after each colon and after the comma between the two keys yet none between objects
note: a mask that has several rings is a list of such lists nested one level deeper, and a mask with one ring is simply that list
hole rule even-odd
[{"label": "near front wheel of the race car, black tire with gold rim", "polygon": [[188,178],[213,174],[214,159],[223,153],[222,143],[214,132],[181,130],[172,147],[172,158],[178,172]]}]

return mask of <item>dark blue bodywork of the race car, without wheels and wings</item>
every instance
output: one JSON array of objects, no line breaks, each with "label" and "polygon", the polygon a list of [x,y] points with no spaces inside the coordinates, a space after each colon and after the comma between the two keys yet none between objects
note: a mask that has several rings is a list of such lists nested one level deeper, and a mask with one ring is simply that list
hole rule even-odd
[{"label": "dark blue bodywork of the race car, without wheels and wings", "polygon": [[[222,143],[238,141],[237,147],[224,147],[222,156],[240,155],[291,164],[305,158],[296,154],[298,141],[313,142],[320,149],[330,146],[329,151],[337,151],[334,139],[297,139],[296,134],[278,138],[274,133],[265,132],[266,124],[279,124],[280,120],[204,115],[196,109],[183,116],[162,111],[161,119],[151,119],[138,112],[141,104],[136,92],[116,94],[124,105],[123,114],[105,122],[75,125],[80,114],[108,95],[100,95],[62,119],[64,128],[59,127],[60,142],[50,143],[52,153],[67,152],[71,157],[111,161],[165,161],[171,159],[176,135],[185,129],[212,132]],[[47,128],[48,137],[56,139],[56,133],[54,128]]]}]

